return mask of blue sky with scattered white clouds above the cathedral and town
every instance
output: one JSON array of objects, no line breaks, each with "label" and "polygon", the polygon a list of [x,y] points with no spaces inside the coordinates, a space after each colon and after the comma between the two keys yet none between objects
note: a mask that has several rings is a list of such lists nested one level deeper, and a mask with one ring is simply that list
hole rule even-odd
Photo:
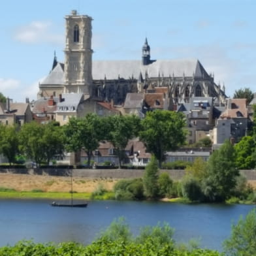
[{"label": "blue sky with scattered white clouds above the cathedral and town", "polygon": [[8,0],[0,3],[0,92],[37,99],[54,51],[64,60],[64,16],[93,18],[93,59],[140,59],[145,37],[152,59],[196,58],[215,82],[255,88],[255,0]]}]

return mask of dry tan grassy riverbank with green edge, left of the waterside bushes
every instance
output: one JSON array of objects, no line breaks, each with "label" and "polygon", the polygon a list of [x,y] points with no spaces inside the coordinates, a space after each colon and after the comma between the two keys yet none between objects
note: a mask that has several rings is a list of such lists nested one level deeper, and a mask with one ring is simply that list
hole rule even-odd
[{"label": "dry tan grassy riverbank with green edge, left of the waterside bushes", "polygon": [[[74,177],[74,199],[89,199],[98,187],[112,191],[117,181],[112,178]],[[71,177],[0,173],[0,198],[70,199],[70,192]]]}]

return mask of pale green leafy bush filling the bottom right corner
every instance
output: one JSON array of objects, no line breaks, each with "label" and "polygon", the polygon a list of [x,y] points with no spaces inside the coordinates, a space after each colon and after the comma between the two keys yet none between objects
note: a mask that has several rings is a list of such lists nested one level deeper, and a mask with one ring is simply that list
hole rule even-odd
[{"label": "pale green leafy bush filling the bottom right corner", "polygon": [[237,224],[232,224],[231,236],[223,243],[226,255],[256,255],[256,210],[253,209],[245,219],[241,216]]}]

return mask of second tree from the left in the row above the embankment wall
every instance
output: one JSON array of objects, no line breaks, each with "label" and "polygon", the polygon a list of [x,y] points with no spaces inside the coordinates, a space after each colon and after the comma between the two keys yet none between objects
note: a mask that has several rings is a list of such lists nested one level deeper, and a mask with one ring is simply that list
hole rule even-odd
[{"label": "second tree from the left in the row above the embankment wall", "polygon": [[45,159],[45,144],[42,136],[44,126],[32,121],[25,123],[19,133],[20,150],[27,158],[35,161],[37,167]]}]

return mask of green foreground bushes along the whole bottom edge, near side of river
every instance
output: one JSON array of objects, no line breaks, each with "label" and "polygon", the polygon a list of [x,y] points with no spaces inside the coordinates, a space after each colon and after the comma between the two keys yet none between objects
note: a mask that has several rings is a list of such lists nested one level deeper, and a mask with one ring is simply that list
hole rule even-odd
[{"label": "green foreground bushes along the whole bottom edge, near side of river", "polygon": [[241,217],[232,225],[230,238],[223,243],[223,252],[200,249],[195,241],[177,244],[172,238],[174,229],[167,223],[155,227],[144,227],[134,237],[125,219],[115,220],[106,231],[88,246],[65,242],[61,244],[35,244],[31,241],[18,242],[14,246],[0,248],[1,256],[255,256],[256,255],[256,210]]}]

